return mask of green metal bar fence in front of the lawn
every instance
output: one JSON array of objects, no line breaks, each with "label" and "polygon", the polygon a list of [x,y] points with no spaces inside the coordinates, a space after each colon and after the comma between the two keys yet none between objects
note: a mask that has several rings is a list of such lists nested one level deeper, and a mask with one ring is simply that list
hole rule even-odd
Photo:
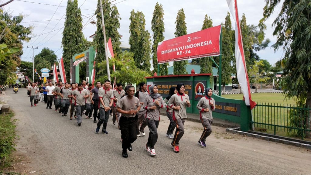
[{"label": "green metal bar fence in front of the lawn", "polygon": [[300,138],[310,133],[310,108],[285,104],[258,103],[252,110],[254,130],[267,134]]}]

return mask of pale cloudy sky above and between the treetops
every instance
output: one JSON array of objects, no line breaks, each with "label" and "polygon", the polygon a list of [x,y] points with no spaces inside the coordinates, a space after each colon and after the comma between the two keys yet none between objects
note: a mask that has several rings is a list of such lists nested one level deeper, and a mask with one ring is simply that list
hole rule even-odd
[{"label": "pale cloudy sky above and between the treetops", "polygon": [[[7,0],[0,0],[7,2]],[[35,2],[35,3],[32,3]],[[151,33],[151,20],[156,2],[163,5],[164,23],[165,23],[165,40],[174,38],[177,12],[183,8],[186,16],[187,32],[193,33],[201,30],[204,16],[207,14],[213,20],[213,26],[220,25],[225,22],[225,16],[229,11],[226,0],[193,0],[191,3],[187,0],[115,0],[115,4],[122,18],[120,21],[121,27],[118,30],[120,35],[123,35],[121,41],[127,44],[129,38],[130,12],[142,11],[145,15],[146,29]],[[49,4],[49,5],[46,5]],[[258,25],[262,18],[264,0],[237,0],[239,18],[243,13],[246,16],[247,24]],[[59,6],[59,7],[58,7]],[[5,12],[10,12],[12,15],[25,15],[22,25],[33,26],[29,42],[23,43],[24,54],[21,60],[32,62],[33,51],[34,55],[39,54],[44,47],[54,50],[58,59],[62,57],[62,32],[65,22],[67,0],[14,0],[4,6]],[[78,0],[78,6],[81,8],[83,18],[83,34],[87,40],[92,39],[89,36],[96,31],[96,25],[90,23],[90,20],[97,21],[94,12],[97,6],[97,0]],[[270,46],[276,42],[276,37],[272,35],[274,29],[272,22],[275,19],[277,12],[280,10],[280,5],[277,7],[273,15],[266,21],[267,30],[266,38],[271,40]],[[91,19],[90,19],[91,18]],[[51,20],[51,21],[50,21]],[[231,16],[232,26],[235,24]],[[267,59],[270,64],[275,64],[283,55],[283,50],[274,52],[273,48],[268,47],[265,50],[258,52],[261,59]],[[38,49],[29,49],[27,47],[38,47]]]}]

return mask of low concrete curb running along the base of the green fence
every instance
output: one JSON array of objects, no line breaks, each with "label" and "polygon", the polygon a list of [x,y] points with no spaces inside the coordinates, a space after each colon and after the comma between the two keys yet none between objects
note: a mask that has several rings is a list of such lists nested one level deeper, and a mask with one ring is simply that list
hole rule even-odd
[{"label": "low concrete curb running along the base of the green fence", "polygon": [[285,140],[285,139],[279,139],[279,138],[274,138],[274,137],[269,137],[269,136],[264,136],[264,135],[259,135],[259,134],[253,134],[253,133],[249,133],[249,132],[243,132],[243,131],[240,131],[239,129],[240,128],[227,128],[226,132],[230,132],[233,134],[239,134],[239,135],[246,135],[248,137],[255,137],[257,139],[262,139],[262,140],[267,140],[267,141],[271,141],[271,142],[288,144],[288,145],[293,145],[293,146],[297,146],[297,147],[301,147],[301,148],[311,149],[311,144],[304,144],[304,143]]}]

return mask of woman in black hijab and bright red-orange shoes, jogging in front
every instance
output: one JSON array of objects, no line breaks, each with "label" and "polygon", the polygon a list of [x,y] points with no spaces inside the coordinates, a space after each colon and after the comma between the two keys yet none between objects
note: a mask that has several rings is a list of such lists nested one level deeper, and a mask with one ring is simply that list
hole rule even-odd
[{"label": "woman in black hijab and bright red-orange shoes, jogging in front", "polygon": [[187,118],[186,107],[190,107],[189,96],[185,94],[185,85],[183,83],[178,83],[176,87],[177,93],[172,95],[172,97],[167,102],[167,106],[173,109],[173,120],[176,124],[176,131],[171,143],[174,152],[179,152],[179,140],[183,136],[184,128],[183,124]]}]

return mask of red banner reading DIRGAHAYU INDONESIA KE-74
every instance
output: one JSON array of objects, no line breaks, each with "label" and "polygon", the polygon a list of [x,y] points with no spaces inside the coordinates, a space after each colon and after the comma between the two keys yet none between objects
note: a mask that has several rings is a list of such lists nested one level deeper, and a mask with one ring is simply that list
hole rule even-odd
[{"label": "red banner reading DIRGAHAYU INDONESIA KE-74", "polygon": [[158,64],[220,55],[221,25],[159,42]]}]

